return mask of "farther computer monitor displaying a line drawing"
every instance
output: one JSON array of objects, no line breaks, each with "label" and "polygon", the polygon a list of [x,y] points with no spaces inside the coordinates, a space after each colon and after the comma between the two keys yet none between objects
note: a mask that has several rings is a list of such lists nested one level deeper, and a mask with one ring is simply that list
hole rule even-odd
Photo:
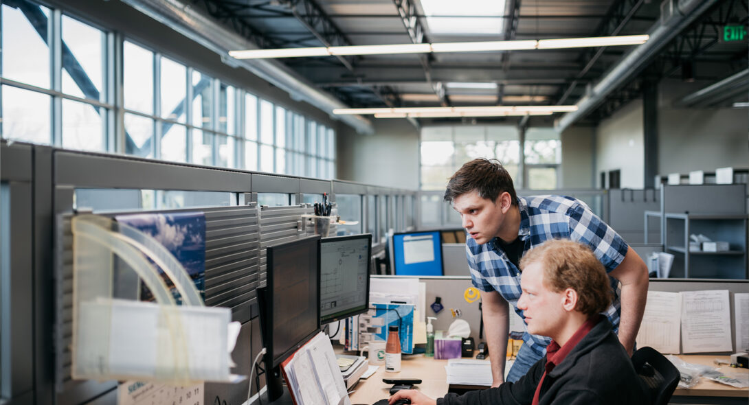
[{"label": "farther computer monitor displaying a line drawing", "polygon": [[320,323],[367,311],[371,256],[372,234],[321,240]]}]

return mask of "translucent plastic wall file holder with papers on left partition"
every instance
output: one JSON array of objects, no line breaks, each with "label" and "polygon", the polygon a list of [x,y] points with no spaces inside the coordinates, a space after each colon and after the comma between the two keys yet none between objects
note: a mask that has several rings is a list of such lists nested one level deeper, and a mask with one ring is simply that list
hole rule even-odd
[{"label": "translucent plastic wall file holder with papers on left partition", "polygon": [[[231,311],[205,307],[184,267],[168,250],[153,237],[106,216],[76,215],[71,225],[74,379],[178,385],[240,380],[229,373],[234,346],[228,338]],[[175,305],[157,266],[175,284],[182,305]],[[156,302],[118,298],[118,273],[130,271],[148,286]]]}]

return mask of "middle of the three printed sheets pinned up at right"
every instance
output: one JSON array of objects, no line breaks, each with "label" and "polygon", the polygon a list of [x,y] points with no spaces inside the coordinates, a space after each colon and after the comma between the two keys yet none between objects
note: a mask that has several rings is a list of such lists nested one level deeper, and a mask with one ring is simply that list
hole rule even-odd
[{"label": "middle of the three printed sheets pinned up at right", "polygon": [[683,353],[730,352],[728,290],[682,291]]}]

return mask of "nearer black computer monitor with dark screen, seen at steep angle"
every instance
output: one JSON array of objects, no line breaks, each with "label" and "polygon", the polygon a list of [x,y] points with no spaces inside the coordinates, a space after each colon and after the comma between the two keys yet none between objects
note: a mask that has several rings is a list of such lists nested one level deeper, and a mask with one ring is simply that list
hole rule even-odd
[{"label": "nearer black computer monitor with dark screen, seen at steep angle", "polygon": [[276,367],[320,331],[320,237],[267,248],[266,299]]}]

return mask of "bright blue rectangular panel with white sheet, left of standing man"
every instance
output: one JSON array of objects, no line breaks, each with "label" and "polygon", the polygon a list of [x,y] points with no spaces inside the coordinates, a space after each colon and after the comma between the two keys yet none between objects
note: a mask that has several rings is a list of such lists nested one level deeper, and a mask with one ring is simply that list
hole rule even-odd
[{"label": "bright blue rectangular panel with white sheet, left of standing man", "polygon": [[395,275],[443,275],[440,231],[392,235]]}]

